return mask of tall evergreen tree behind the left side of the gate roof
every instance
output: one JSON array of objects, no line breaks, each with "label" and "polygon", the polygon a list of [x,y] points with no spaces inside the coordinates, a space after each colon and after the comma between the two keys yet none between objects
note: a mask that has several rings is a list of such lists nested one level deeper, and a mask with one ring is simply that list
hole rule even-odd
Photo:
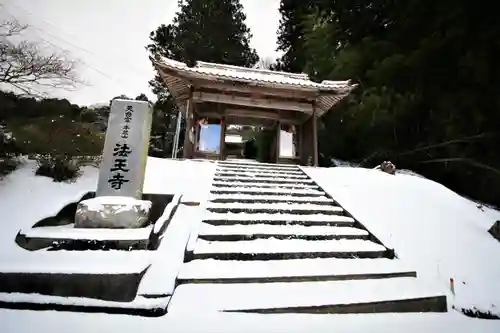
[{"label": "tall evergreen tree behind the left side of the gate roof", "polygon": [[[246,15],[238,0],[181,0],[179,7],[173,23],[162,24],[151,32],[147,49],[152,56],[164,56],[189,66],[196,61],[244,67],[257,63],[259,57],[250,47],[252,35],[244,23]],[[156,74],[149,84],[158,97],[157,119],[169,121],[161,128],[175,130],[177,111],[161,77]],[[167,138],[167,149],[171,147],[170,134],[162,134]]]}]

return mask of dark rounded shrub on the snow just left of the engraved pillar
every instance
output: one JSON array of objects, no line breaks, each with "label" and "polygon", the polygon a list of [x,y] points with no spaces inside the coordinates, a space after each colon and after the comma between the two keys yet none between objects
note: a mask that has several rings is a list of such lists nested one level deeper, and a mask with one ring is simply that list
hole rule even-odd
[{"label": "dark rounded shrub on the snow just left of the engraved pillar", "polygon": [[68,155],[39,155],[37,176],[45,176],[56,182],[73,181],[80,176],[80,164]]}]

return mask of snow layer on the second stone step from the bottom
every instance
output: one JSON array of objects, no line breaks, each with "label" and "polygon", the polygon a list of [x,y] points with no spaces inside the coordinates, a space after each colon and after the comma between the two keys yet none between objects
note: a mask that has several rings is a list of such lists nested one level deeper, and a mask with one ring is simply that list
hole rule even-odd
[{"label": "snow layer on the second stone step from the bottom", "polygon": [[293,276],[342,276],[411,272],[401,260],[291,259],[266,261],[193,260],[182,266],[181,279],[230,279]]}]

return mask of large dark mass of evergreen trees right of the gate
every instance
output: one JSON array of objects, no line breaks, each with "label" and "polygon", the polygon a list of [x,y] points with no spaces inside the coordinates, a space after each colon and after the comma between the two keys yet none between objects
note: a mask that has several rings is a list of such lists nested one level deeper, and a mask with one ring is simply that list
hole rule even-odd
[{"label": "large dark mass of evergreen trees right of the gate", "polygon": [[391,159],[500,204],[500,22],[492,5],[282,0],[283,8],[288,69],[360,85],[322,119],[321,153],[363,166]]}]

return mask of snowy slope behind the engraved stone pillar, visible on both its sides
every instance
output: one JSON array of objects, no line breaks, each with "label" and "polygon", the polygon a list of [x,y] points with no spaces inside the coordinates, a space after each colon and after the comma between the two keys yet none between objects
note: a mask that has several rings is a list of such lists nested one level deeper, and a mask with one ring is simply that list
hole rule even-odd
[{"label": "snowy slope behind the engraved stone pillar, visible on both its sides", "polygon": [[[55,215],[65,205],[95,191],[99,170],[87,166],[75,183],[56,183],[35,176],[36,162],[26,161],[18,170],[0,181],[0,244],[2,254],[21,251],[14,237],[22,228]],[[200,161],[177,161],[149,157],[144,193],[179,193],[184,201],[204,201],[211,184],[215,164]],[[24,250],[22,250],[25,252]]]}]

